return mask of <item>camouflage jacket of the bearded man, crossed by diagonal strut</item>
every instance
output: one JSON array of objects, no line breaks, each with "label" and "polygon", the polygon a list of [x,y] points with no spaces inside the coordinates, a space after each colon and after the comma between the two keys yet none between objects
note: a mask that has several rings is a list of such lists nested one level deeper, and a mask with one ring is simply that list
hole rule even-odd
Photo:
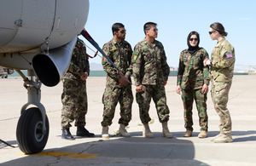
[{"label": "camouflage jacket of the bearded man, crossed by diagonal strut", "polygon": [[[108,55],[109,59],[113,61],[113,64],[119,68],[121,72],[125,74],[131,80],[131,55],[132,49],[130,43],[123,40],[121,43],[117,43],[114,39],[105,43],[102,50]],[[119,84],[119,72],[113,67],[105,57],[102,57],[102,66],[105,72],[107,72],[107,82],[115,82]]]}]

